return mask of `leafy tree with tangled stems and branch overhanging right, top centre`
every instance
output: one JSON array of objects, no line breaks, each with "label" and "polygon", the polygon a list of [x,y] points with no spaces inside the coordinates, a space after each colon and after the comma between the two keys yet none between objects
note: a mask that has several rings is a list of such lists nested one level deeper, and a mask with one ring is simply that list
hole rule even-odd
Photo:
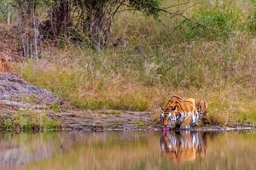
[{"label": "leafy tree with tangled stems and branch overhanging right, top centre", "polygon": [[160,5],[158,0],[76,0],[76,4],[81,9],[79,23],[97,50],[108,45],[113,19],[122,6],[157,16]]}]

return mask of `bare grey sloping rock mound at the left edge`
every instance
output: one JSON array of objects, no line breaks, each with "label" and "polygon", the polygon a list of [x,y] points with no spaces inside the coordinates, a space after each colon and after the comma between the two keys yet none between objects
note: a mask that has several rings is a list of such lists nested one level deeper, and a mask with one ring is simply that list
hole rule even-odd
[{"label": "bare grey sloping rock mound at the left edge", "polygon": [[60,99],[33,86],[15,74],[0,74],[0,105],[12,108],[45,109]]}]

